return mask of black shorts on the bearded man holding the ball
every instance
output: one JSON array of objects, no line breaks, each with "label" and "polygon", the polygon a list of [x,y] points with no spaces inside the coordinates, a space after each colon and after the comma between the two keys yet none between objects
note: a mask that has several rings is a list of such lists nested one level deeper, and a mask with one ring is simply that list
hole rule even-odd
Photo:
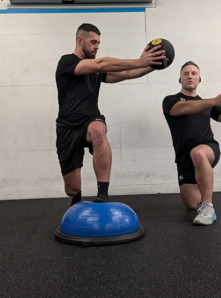
[{"label": "black shorts on the bearded man holding the ball", "polygon": [[91,117],[77,129],[56,127],[56,147],[62,176],[83,167],[84,148],[89,148],[93,155],[93,146],[87,142],[88,125],[93,121],[101,121],[106,125],[104,115],[99,115]]}]

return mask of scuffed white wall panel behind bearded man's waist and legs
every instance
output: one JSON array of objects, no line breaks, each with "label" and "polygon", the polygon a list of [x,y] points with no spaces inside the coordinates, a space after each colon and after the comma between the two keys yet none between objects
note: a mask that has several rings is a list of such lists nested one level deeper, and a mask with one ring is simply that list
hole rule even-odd
[{"label": "scuffed white wall panel behind bearded man's waist and legs", "polygon": [[[113,152],[112,185],[122,184],[119,87],[102,85],[99,98]],[[63,188],[56,153],[56,87],[1,87],[0,104],[0,189]],[[92,156],[85,152],[82,184],[96,186]]]}]

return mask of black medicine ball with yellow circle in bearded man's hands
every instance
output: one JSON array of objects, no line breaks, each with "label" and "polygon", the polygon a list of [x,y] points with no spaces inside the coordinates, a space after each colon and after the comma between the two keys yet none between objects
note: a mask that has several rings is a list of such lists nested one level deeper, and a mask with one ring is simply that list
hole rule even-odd
[{"label": "black medicine ball with yellow circle in bearded man's hands", "polygon": [[148,51],[153,49],[155,46],[159,46],[159,45],[161,45],[161,48],[156,50],[156,52],[165,50],[165,53],[162,54],[162,56],[166,56],[166,58],[156,61],[156,62],[162,62],[161,65],[156,65],[156,64],[151,65],[151,68],[157,69],[157,70],[165,69],[168,66],[170,66],[174,61],[174,57],[175,57],[175,51],[174,51],[173,45],[168,40],[163,38],[158,38],[151,41],[148,44],[148,46],[150,46]]}]

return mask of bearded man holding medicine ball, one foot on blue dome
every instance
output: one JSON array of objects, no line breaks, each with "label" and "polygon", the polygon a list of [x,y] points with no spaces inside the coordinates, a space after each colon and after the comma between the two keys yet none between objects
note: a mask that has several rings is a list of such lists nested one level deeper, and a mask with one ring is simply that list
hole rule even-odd
[{"label": "bearded man holding medicine ball, one foot on blue dome", "polygon": [[108,202],[112,154],[106,136],[105,116],[98,108],[101,82],[117,83],[142,77],[153,71],[149,66],[161,65],[158,60],[165,58],[159,56],[165,51],[158,51],[161,46],[156,46],[151,50],[146,47],[139,59],[95,59],[100,35],[92,24],[79,26],[74,52],[63,55],[56,69],[59,102],[56,147],[65,192],[72,197],[71,206],[81,201],[84,148],[89,148],[93,154],[98,187],[94,202]]}]

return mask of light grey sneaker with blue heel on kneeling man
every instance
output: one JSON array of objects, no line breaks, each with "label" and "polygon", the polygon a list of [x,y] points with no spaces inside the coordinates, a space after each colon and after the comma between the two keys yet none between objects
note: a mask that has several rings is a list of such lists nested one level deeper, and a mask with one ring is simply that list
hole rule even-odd
[{"label": "light grey sneaker with blue heel on kneeling man", "polygon": [[194,219],[194,224],[209,225],[217,219],[213,204],[203,201],[201,205],[197,208],[198,215]]}]

